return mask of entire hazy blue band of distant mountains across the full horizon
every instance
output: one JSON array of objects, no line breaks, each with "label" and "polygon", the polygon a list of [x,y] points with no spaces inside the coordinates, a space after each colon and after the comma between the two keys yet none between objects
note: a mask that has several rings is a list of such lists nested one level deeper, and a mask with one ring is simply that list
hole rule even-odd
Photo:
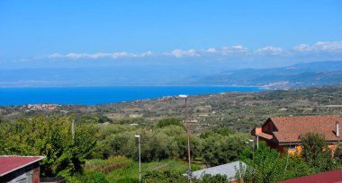
[{"label": "entire hazy blue band of distant mountains across the full horizon", "polygon": [[267,69],[238,69],[216,74],[205,71],[205,68],[201,69],[151,66],[3,69],[0,70],[0,87],[240,85],[288,89],[342,84],[342,61],[312,62]]}]

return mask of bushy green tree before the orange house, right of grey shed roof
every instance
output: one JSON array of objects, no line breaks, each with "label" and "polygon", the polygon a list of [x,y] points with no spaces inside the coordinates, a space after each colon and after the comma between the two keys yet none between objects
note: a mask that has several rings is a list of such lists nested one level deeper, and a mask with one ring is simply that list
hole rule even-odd
[{"label": "bushy green tree before the orange house, right of grey shed roof", "polygon": [[246,149],[241,160],[247,163],[247,169],[238,170],[237,179],[246,182],[276,182],[310,175],[309,165],[299,155],[280,154],[264,142],[253,153]]}]

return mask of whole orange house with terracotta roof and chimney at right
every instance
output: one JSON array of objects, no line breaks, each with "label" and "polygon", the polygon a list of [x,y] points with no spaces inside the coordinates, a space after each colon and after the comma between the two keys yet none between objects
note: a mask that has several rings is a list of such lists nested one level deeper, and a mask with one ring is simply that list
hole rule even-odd
[{"label": "whole orange house with terracotta roof and chimney at right", "polygon": [[329,148],[335,149],[341,140],[340,122],[342,118],[338,115],[268,118],[263,126],[255,127],[251,135],[256,136],[257,144],[265,141],[280,153],[301,153],[301,135],[316,132],[325,136]]}]

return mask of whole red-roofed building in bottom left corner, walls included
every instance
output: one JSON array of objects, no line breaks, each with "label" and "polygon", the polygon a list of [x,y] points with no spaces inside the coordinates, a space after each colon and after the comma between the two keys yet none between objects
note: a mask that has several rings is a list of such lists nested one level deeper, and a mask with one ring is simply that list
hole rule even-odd
[{"label": "whole red-roofed building in bottom left corner, walls included", "polygon": [[39,161],[43,156],[0,155],[0,182],[40,182]]}]

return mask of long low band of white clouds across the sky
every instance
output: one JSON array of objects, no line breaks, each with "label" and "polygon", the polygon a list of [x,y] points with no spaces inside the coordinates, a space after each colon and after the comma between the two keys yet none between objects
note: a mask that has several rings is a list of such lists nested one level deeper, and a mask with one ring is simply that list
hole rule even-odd
[{"label": "long low band of white clouds across the sky", "polygon": [[319,41],[315,44],[301,44],[292,49],[284,49],[274,46],[266,46],[263,48],[250,49],[242,45],[235,45],[222,48],[202,48],[202,49],[175,49],[170,52],[152,53],[146,51],[143,53],[131,53],[131,52],[112,52],[112,53],[68,53],[68,54],[51,54],[49,56],[39,58],[71,58],[71,59],[96,59],[96,58],[123,58],[123,57],[259,57],[259,56],[282,56],[282,57],[295,57],[300,53],[324,53],[334,54],[342,53],[342,40],[338,41]]}]

